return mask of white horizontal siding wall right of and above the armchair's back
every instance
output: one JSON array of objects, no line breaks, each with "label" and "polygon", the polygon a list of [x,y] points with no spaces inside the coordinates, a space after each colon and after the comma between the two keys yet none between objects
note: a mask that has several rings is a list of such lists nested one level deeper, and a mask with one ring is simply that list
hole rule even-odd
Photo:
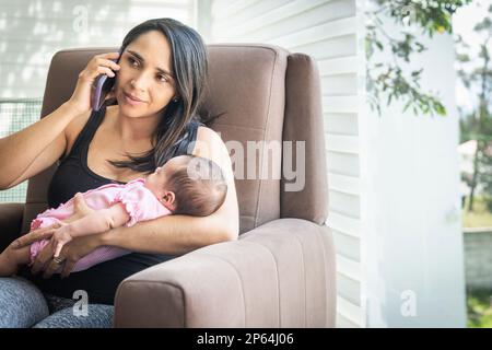
[{"label": "white horizontal siding wall right of and above the armchair's back", "polygon": [[208,42],[268,43],[313,56],[327,140],[329,219],[337,248],[340,327],[364,327],[361,307],[359,104],[363,33],[356,0],[213,0]]}]

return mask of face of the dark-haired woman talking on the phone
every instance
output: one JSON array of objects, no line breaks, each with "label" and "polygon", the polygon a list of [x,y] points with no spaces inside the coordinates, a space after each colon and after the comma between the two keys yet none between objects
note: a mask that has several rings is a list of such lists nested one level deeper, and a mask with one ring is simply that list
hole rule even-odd
[{"label": "face of the dark-haired woman talking on the phone", "polygon": [[116,98],[122,114],[129,117],[160,114],[175,97],[171,46],[161,32],[147,32],[130,43],[119,65]]}]

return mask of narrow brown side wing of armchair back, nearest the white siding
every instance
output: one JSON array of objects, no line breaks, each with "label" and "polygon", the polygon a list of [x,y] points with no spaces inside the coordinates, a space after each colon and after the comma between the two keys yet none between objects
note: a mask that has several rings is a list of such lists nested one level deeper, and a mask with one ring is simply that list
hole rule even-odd
[{"label": "narrow brown side wing of armchair back, nearest the white siding", "polygon": [[323,224],[328,217],[328,183],[319,73],[309,56],[293,54],[288,62],[283,140],[306,142],[306,182],[301,192],[281,191],[281,217]]}]

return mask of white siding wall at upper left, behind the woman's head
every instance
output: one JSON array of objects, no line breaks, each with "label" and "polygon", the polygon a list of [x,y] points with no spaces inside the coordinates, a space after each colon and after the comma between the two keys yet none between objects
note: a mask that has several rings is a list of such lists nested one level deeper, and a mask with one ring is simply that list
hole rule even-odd
[{"label": "white siding wall at upper left, behind the woman's head", "polygon": [[0,98],[43,97],[52,55],[119,46],[134,25],[169,16],[194,24],[192,0],[0,0]]}]

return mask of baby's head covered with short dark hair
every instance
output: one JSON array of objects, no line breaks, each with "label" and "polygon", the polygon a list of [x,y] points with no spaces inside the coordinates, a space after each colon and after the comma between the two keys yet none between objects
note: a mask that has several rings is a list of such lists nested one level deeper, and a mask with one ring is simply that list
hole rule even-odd
[{"label": "baby's head covered with short dark hair", "polygon": [[213,161],[196,155],[177,166],[169,178],[167,189],[175,194],[175,214],[207,217],[218,210],[225,200],[227,184],[221,167]]}]

